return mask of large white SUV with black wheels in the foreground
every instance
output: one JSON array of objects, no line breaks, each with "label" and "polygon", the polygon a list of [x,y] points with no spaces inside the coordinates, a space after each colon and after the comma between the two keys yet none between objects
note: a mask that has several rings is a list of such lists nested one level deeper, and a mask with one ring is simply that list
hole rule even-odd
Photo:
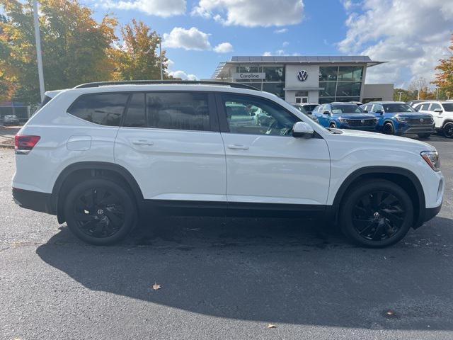
[{"label": "large white SUV with black wheels in the foreground", "polygon": [[[16,136],[13,198],[91,244],[173,208],[315,217],[388,246],[442,205],[431,145],[326,129],[248,86],[92,83],[54,94]],[[258,111],[267,119],[250,119]]]}]

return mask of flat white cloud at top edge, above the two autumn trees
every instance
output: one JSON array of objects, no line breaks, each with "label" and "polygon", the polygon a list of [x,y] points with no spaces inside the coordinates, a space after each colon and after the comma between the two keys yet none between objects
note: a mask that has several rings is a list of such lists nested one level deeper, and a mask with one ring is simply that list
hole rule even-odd
[{"label": "flat white cloud at top edge, above the two autumn trees", "polygon": [[185,13],[186,0],[98,0],[104,8],[133,9],[149,16],[179,16]]}]

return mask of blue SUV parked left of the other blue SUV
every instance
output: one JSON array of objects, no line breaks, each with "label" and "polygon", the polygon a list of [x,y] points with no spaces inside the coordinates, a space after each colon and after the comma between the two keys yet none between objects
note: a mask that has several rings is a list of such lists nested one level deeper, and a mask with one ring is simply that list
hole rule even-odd
[{"label": "blue SUV parked left of the other blue SUV", "polygon": [[321,104],[312,114],[325,128],[376,131],[378,121],[374,115],[351,103]]}]

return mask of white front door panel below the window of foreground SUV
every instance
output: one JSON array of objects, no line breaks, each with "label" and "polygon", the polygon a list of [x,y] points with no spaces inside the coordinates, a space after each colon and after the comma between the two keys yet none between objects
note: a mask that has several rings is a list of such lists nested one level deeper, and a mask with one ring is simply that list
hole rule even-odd
[{"label": "white front door panel below the window of foreground SUV", "polygon": [[330,157],[325,140],[235,133],[222,137],[229,202],[326,204]]}]

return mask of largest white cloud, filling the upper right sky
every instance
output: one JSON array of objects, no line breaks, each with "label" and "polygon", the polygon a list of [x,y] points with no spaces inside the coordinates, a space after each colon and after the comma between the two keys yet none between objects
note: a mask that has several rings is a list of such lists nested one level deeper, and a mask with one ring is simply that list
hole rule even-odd
[{"label": "largest white cloud, filling the upper right sky", "polygon": [[[345,8],[351,6],[345,4]],[[431,81],[453,26],[453,1],[364,0],[361,13],[349,13],[348,32],[338,42],[345,53],[369,55],[389,63],[367,71],[367,82],[394,82],[407,86],[411,79]]]}]

